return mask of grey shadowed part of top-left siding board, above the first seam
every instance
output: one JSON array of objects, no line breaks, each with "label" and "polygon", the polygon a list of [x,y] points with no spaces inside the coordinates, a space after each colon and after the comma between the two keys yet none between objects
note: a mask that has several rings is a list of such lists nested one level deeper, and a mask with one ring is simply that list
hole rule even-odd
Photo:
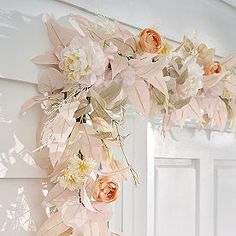
[{"label": "grey shadowed part of top-left siding board, above the first seam", "polygon": [[[30,60],[52,49],[42,18],[0,10],[0,77],[37,83],[38,69]],[[67,18],[60,22],[68,24]]]}]

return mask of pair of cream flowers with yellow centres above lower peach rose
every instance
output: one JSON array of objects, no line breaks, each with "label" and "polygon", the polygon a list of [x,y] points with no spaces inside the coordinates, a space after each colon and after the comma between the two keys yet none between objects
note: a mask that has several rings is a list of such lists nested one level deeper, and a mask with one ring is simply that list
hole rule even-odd
[{"label": "pair of cream flowers with yellow centres above lower peach rose", "polygon": [[96,166],[92,158],[78,156],[71,158],[68,168],[64,170],[63,176],[59,177],[59,183],[63,188],[71,191],[82,188],[91,172]]}]

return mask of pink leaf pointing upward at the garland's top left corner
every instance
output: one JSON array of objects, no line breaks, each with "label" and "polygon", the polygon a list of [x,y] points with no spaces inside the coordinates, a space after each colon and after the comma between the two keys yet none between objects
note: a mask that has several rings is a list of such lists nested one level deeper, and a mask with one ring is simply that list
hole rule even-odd
[{"label": "pink leaf pointing upward at the garland's top left corner", "polygon": [[49,39],[55,48],[58,46],[66,47],[78,35],[76,31],[59,25],[51,17],[47,18],[46,25]]}]

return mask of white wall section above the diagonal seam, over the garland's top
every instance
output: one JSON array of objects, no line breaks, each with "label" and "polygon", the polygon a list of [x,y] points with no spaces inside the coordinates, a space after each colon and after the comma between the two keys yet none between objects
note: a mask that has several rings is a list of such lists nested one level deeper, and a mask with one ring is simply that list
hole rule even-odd
[{"label": "white wall section above the diagonal seam, over the garland's top", "polygon": [[[236,51],[236,1],[225,0],[65,0],[144,28],[158,26],[170,39],[199,33],[219,55]],[[233,4],[235,6],[233,6]]]}]

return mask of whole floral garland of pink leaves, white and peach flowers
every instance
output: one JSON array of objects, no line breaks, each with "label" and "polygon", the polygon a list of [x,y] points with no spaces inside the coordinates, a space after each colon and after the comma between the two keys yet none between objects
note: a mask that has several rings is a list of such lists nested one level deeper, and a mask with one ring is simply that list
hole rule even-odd
[{"label": "whole floral garland of pink leaves, white and peach flowers", "polygon": [[32,60],[47,66],[38,78],[42,95],[21,110],[41,104],[35,160],[54,184],[37,235],[117,235],[107,222],[118,182],[130,171],[138,183],[120,133],[127,103],[147,118],[162,114],[164,131],[188,118],[223,131],[236,120],[236,56],[215,61],[214,49],[187,37],[173,50],[153,29],[136,36],[107,19],[70,22],[66,28],[46,17],[53,49]]}]

